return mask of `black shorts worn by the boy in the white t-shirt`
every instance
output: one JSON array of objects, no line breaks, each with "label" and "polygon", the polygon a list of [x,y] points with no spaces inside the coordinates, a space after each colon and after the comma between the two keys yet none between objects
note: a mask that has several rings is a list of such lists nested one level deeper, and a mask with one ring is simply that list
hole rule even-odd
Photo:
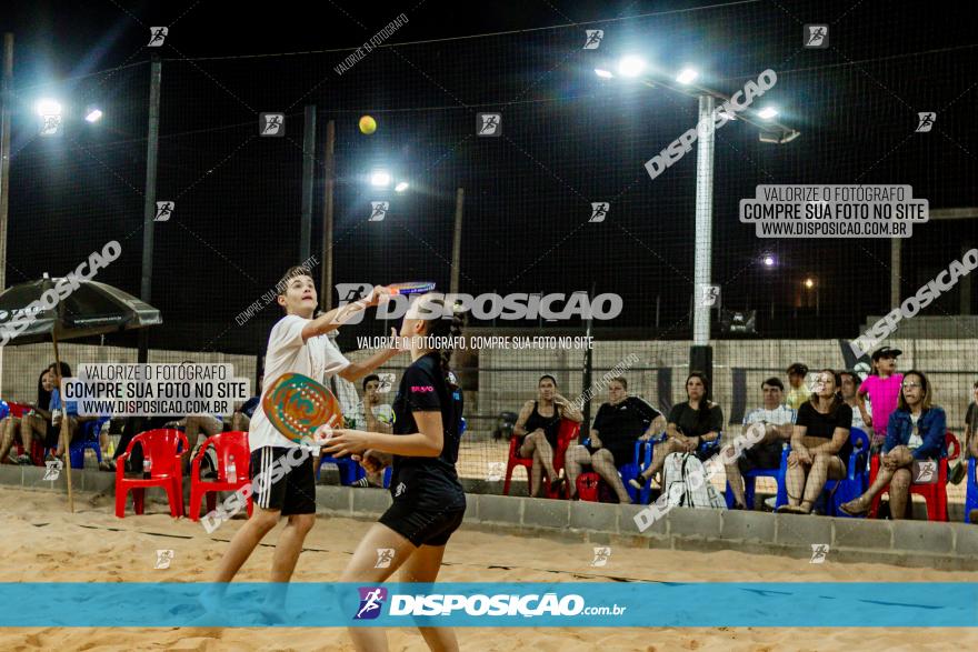
[{"label": "black shorts worn by the boy in the white t-shirt", "polygon": [[289,514],[316,513],[316,472],[307,449],[262,447],[251,451],[255,504]]}]

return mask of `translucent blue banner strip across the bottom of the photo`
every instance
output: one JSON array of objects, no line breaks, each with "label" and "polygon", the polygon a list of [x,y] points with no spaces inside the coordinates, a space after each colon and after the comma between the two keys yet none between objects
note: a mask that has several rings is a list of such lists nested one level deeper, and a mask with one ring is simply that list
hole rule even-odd
[{"label": "translucent blue banner strip across the bottom of the photo", "polygon": [[978,626],[965,582],[0,583],[0,626]]}]

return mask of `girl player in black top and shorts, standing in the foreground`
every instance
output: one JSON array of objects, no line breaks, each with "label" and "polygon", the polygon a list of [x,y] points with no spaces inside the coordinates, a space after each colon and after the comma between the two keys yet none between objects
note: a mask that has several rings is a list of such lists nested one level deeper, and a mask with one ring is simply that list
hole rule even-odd
[{"label": "girl player in black top and shorts, standing in the foreground", "polygon": [[[336,430],[326,443],[335,457],[351,455],[371,472],[392,465],[388,509],[360,544],[340,582],[377,584],[399,568],[403,582],[433,582],[445,545],[462,522],[466,494],[456,472],[462,390],[448,370],[451,341],[461,334],[461,319],[451,308],[445,318],[440,294],[425,294],[408,310],[401,338],[410,338],[411,365],[405,370],[393,401],[393,433]],[[386,568],[378,550],[393,550]],[[457,650],[455,631],[425,628],[429,646]],[[357,650],[386,650],[379,628],[349,628]]]}]

